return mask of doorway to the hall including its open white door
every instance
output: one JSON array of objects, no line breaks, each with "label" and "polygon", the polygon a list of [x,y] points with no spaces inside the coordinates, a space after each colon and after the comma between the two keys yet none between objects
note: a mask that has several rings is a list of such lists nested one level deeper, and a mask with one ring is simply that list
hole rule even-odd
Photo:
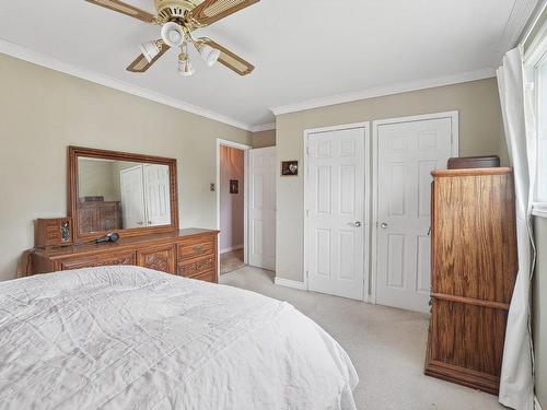
[{"label": "doorway to the hall including its open white door", "polygon": [[[230,165],[223,166],[221,162]],[[246,265],[276,269],[276,163],[275,147],[252,149],[237,142],[217,140],[214,188],[217,229],[221,231],[218,258],[221,273]],[[243,247],[240,244],[242,226]]]}]

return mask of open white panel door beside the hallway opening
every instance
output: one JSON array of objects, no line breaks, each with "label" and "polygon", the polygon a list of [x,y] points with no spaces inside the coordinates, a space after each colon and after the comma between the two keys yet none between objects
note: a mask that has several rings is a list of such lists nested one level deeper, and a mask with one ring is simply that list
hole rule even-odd
[{"label": "open white panel door beside the hallway opening", "polygon": [[276,269],[276,148],[248,151],[248,263]]}]

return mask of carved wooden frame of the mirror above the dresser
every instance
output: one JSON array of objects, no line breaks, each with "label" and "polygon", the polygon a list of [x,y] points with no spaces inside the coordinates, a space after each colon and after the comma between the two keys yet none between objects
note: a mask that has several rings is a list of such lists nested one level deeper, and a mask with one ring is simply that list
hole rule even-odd
[{"label": "carved wooden frame of the mirror above the dresser", "polygon": [[78,157],[106,159],[114,161],[128,161],[147,164],[161,164],[170,167],[170,187],[171,187],[171,224],[164,226],[135,227],[129,230],[117,230],[120,237],[142,236],[159,233],[168,233],[178,231],[178,185],[177,166],[175,159],[162,156],[133,154],[119,151],[106,151],[92,148],[69,147],[68,148],[68,206],[69,216],[72,218],[73,241],[82,244],[93,242],[107,232],[82,233],[78,223]]}]

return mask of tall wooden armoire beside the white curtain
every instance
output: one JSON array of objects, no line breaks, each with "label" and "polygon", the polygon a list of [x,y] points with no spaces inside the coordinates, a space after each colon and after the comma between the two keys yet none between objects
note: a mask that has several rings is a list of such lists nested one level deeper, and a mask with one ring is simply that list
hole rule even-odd
[{"label": "tall wooden armoire beside the white curtain", "polygon": [[426,374],[498,394],[517,272],[511,168],[435,171]]}]

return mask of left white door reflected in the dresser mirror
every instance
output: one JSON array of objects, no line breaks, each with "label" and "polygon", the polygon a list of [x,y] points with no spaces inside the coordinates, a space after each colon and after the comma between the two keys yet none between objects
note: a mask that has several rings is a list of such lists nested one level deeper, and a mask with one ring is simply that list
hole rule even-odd
[{"label": "left white door reflected in the dresser mirror", "polygon": [[142,227],[146,224],[144,184],[142,165],[120,171],[121,214],[124,229]]}]

